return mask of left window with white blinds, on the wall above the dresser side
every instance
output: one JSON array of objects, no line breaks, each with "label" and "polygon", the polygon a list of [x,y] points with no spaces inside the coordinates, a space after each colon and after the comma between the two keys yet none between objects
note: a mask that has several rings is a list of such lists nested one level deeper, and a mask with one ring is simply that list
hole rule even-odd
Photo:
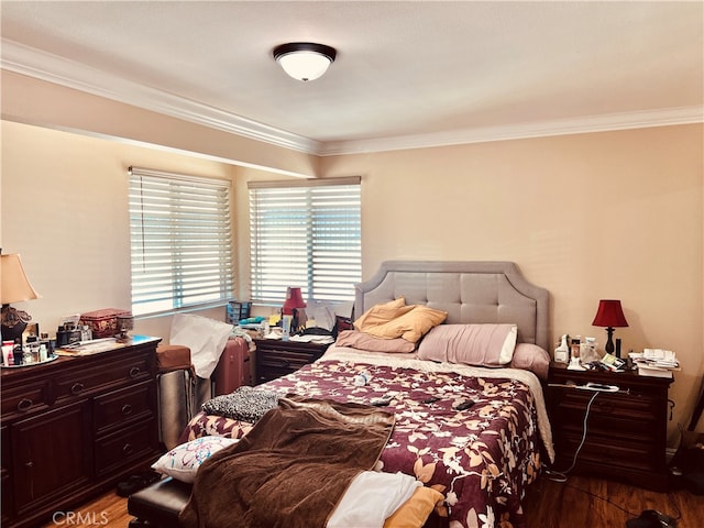
[{"label": "left window with white blinds, on the wall above the dresser side", "polygon": [[232,297],[230,183],[130,167],[132,312]]}]

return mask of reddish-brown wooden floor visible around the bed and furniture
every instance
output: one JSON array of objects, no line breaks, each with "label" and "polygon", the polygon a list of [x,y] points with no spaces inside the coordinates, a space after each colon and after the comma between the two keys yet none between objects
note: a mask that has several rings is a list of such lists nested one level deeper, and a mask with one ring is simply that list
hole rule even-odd
[{"label": "reddish-brown wooden floor visible around the bed and furniture", "polygon": [[[702,495],[686,491],[656,493],[582,476],[571,476],[565,483],[541,477],[531,486],[525,506],[530,528],[625,528],[626,520],[637,517],[644,509],[681,517],[679,528],[704,527]],[[74,514],[73,521],[62,517],[57,522],[44,525],[44,528],[127,528],[131,519],[127,499],[114,493],[76,508]]]}]

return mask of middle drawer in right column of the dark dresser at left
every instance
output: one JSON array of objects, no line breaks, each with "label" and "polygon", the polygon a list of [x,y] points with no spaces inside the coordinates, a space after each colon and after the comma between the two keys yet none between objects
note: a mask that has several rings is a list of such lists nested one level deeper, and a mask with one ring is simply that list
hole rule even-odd
[{"label": "middle drawer in right column of the dark dresser at left", "polygon": [[154,400],[153,382],[121,388],[98,396],[94,400],[94,425],[96,435],[120,428],[130,421],[154,416],[151,403]]}]

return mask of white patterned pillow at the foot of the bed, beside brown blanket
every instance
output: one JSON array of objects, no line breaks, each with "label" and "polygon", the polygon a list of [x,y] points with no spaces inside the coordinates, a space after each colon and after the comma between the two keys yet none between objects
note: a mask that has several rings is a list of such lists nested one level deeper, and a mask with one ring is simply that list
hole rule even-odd
[{"label": "white patterned pillow at the foot of the bed, beside brown blanket", "polygon": [[175,447],[163,454],[152,469],[163,475],[169,475],[177,481],[191,483],[200,464],[228,446],[239,442],[232,438],[201,437],[190,442]]}]

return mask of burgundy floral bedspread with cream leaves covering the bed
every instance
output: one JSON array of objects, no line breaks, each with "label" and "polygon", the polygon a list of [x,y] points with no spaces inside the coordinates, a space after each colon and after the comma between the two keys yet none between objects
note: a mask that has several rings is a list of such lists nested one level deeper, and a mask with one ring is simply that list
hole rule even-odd
[{"label": "burgundy floral bedspread with cream leaves covering the bed", "polygon": [[[526,486],[538,476],[543,453],[552,457],[549,424],[539,420],[544,414],[539,384],[529,387],[522,371],[404,355],[338,348],[261,387],[362,404],[384,405],[377,399],[386,398],[383,408],[396,414],[396,426],[380,461],[383,471],[415,475],[443,493],[438,514],[449,517],[450,528],[526,527]],[[358,374],[366,377],[364,385]],[[471,406],[459,410],[466,400]],[[205,435],[239,438],[251,427],[200,413],[182,441]]]}]

